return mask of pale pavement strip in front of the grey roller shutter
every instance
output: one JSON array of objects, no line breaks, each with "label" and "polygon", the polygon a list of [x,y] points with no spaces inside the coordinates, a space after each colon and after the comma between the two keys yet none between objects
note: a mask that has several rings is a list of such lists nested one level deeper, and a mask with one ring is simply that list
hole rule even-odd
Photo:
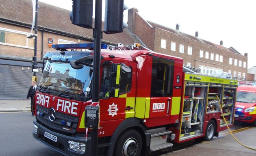
[{"label": "pale pavement strip in front of the grey roller shutter", "polygon": [[30,112],[29,100],[0,100],[0,112]]}]

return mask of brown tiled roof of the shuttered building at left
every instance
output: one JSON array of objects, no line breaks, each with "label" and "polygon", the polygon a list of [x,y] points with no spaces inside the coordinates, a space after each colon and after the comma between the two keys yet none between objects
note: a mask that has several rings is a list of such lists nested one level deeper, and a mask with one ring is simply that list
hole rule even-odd
[{"label": "brown tiled roof of the shuttered building at left", "polygon": [[[84,37],[85,39],[93,39],[93,30],[71,24],[69,13],[69,10],[39,2],[38,28],[77,35]],[[32,19],[33,9],[31,0],[1,0],[0,20],[31,25]],[[103,29],[104,22],[102,22],[102,30]],[[130,31],[126,30],[126,28],[124,29],[124,32],[118,34],[103,34],[102,41],[123,44],[132,44],[134,42],[140,43],[140,41],[134,37]]]}]

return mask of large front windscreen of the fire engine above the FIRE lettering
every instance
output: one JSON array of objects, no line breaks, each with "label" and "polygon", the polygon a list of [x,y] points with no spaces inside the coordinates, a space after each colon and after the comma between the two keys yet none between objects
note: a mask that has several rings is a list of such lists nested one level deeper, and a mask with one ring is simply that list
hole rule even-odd
[{"label": "large front windscreen of the fire engine above the FIRE lettering", "polygon": [[48,60],[43,69],[39,87],[61,94],[89,97],[92,67],[74,69],[69,63]]}]

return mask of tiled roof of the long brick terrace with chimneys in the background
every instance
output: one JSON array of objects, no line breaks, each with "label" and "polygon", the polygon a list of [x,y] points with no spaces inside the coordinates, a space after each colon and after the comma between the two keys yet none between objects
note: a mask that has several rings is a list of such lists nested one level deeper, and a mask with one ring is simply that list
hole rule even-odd
[{"label": "tiled roof of the long brick terrace with chimneys in the background", "polygon": [[162,25],[160,25],[160,24],[156,24],[156,23],[154,23],[154,22],[150,22],[150,21],[147,21],[147,22],[148,22],[152,27],[161,28],[161,29],[163,29],[163,30],[167,30],[167,31],[169,31],[169,32],[175,33],[175,34],[180,35],[180,36],[183,36],[183,37],[187,37],[187,38],[189,38],[189,39],[193,39],[193,40],[195,40],[195,41],[199,41],[199,42],[201,42],[201,43],[205,43],[205,44],[212,45],[212,46],[214,46],[214,47],[217,47],[217,48],[220,48],[220,49],[223,49],[223,50],[227,50],[227,51],[230,51],[230,52],[234,52],[234,53],[237,53],[237,54],[241,54],[241,53],[239,53],[238,51],[236,51],[233,47],[226,48],[226,47],[224,47],[223,45],[218,45],[218,44],[212,43],[212,42],[210,42],[210,41],[206,41],[206,40],[204,40],[204,39],[200,39],[200,38],[198,38],[198,37],[195,37],[195,36],[192,36],[192,35],[188,35],[188,34],[186,34],[186,33],[184,33],[184,32],[180,32],[180,31],[178,31],[178,30],[174,30],[174,29],[168,28],[168,27],[166,27],[166,26],[162,26]]}]

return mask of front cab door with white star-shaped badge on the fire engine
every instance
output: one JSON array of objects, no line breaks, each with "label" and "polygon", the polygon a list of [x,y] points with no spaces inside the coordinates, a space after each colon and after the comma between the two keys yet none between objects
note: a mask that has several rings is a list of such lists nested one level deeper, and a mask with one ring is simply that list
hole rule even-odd
[{"label": "front cab door with white star-shaped badge on the fire engine", "polygon": [[[112,63],[117,62],[113,61]],[[124,120],[135,116],[136,64],[129,62],[118,64],[121,65],[119,84],[115,84],[117,74],[113,74],[113,71],[111,73],[112,64],[102,64],[100,85],[101,121]],[[118,98],[114,97],[113,88],[119,89]]]}]

